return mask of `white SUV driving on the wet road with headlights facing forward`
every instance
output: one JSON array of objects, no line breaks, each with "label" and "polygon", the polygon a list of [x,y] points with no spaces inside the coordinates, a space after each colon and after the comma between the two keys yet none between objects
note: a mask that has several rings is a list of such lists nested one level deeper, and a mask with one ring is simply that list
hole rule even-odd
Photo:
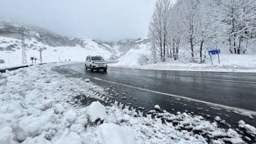
[{"label": "white SUV driving on the wet road with headlights facing forward", "polygon": [[107,71],[107,62],[104,60],[102,56],[87,56],[85,61],[85,69],[90,68],[90,71],[94,71],[94,69],[103,69],[104,72]]}]

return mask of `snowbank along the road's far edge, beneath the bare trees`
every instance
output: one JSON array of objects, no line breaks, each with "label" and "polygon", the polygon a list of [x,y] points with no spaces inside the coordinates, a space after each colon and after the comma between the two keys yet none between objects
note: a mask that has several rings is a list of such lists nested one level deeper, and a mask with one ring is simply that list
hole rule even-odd
[{"label": "snowbank along the road's far edge, beneath the bare trees", "polygon": [[[137,52],[138,54],[142,52]],[[148,52],[144,52],[148,54]],[[177,71],[224,71],[224,72],[249,72],[256,73],[256,54],[254,55],[234,55],[221,54],[220,64],[217,56],[213,56],[213,65],[208,58],[205,64],[183,63],[182,61],[168,60],[166,63],[145,64],[138,63],[140,55],[125,55],[125,59],[119,59],[119,63],[111,64],[120,68],[137,68],[137,69],[158,69],[158,70],[177,70]],[[128,63],[129,62],[129,63]]]}]

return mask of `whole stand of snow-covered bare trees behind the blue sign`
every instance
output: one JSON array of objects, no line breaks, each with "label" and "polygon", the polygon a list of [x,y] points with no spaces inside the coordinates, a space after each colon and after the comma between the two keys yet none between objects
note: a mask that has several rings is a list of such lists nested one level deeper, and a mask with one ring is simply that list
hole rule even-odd
[{"label": "whole stand of snow-covered bare trees behind the blue sign", "polygon": [[245,54],[256,40],[256,1],[178,0],[171,6],[169,0],[157,0],[149,39],[155,62],[178,59],[180,47],[193,63],[204,63],[207,50],[217,47]]}]

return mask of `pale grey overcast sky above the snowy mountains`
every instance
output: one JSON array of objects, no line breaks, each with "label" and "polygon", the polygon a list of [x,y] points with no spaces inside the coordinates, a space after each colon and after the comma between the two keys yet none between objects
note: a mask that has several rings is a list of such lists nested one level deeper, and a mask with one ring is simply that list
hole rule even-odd
[{"label": "pale grey overcast sky above the snowy mountains", "polygon": [[61,35],[121,40],[147,35],[156,0],[1,0],[0,20]]}]

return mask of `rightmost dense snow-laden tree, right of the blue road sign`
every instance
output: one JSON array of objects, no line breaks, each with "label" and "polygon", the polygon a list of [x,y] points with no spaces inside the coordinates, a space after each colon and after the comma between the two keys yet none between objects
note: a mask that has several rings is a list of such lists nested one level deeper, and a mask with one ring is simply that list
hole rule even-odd
[{"label": "rightmost dense snow-laden tree, right of the blue road sign", "polygon": [[256,23],[254,0],[222,0],[222,22],[228,35],[229,51],[232,54],[245,53],[248,39],[253,39]]}]

